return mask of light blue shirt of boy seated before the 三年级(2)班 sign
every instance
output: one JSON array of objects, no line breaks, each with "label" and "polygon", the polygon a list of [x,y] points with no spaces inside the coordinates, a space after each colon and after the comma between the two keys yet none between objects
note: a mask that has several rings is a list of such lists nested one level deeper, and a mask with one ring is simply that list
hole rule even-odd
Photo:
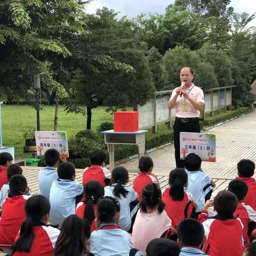
[{"label": "light blue shirt of boy seated before the \u4e09\u5e74\u7ea7(2)\u73ed sign", "polygon": [[204,187],[211,184],[212,179],[205,172],[188,172],[187,190],[194,196],[197,203],[196,212],[201,212],[205,204]]}]

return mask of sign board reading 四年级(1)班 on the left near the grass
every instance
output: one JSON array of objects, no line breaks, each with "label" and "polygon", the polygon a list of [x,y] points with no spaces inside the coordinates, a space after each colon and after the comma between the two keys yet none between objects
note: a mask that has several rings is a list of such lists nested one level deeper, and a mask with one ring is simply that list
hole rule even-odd
[{"label": "sign board reading \u56db\u5e74\u7ea7(1)\u73ed on the left near the grass", "polygon": [[35,137],[38,156],[43,156],[47,149],[54,148],[59,151],[61,158],[68,158],[68,140],[66,132],[36,131]]}]

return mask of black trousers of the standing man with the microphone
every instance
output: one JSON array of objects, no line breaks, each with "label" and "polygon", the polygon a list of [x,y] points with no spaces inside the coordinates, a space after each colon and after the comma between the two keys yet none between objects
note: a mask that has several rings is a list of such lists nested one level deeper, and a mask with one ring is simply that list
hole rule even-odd
[{"label": "black trousers of the standing man with the microphone", "polygon": [[180,159],[180,132],[200,132],[199,119],[193,119],[188,123],[182,123],[181,120],[175,119],[173,131],[176,167],[184,168],[184,161]]}]

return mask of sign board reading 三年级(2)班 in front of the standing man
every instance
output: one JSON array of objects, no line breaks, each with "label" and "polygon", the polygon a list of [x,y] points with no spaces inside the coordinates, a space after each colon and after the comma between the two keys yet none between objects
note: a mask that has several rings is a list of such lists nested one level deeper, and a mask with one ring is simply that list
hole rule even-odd
[{"label": "sign board reading \u4e09\u5e74\u7ea7(2)\u73ed in front of the standing man", "polygon": [[216,161],[216,138],[215,134],[180,132],[180,159],[195,153],[202,161]]}]

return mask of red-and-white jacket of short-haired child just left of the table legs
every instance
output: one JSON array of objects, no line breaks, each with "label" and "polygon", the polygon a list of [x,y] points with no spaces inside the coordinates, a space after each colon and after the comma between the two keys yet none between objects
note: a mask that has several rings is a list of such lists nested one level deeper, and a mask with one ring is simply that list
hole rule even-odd
[{"label": "red-and-white jacket of short-haired child just left of the table legs", "polygon": [[99,181],[103,187],[106,187],[105,179],[111,179],[111,172],[100,165],[91,165],[84,169],[83,186],[89,181]]}]

